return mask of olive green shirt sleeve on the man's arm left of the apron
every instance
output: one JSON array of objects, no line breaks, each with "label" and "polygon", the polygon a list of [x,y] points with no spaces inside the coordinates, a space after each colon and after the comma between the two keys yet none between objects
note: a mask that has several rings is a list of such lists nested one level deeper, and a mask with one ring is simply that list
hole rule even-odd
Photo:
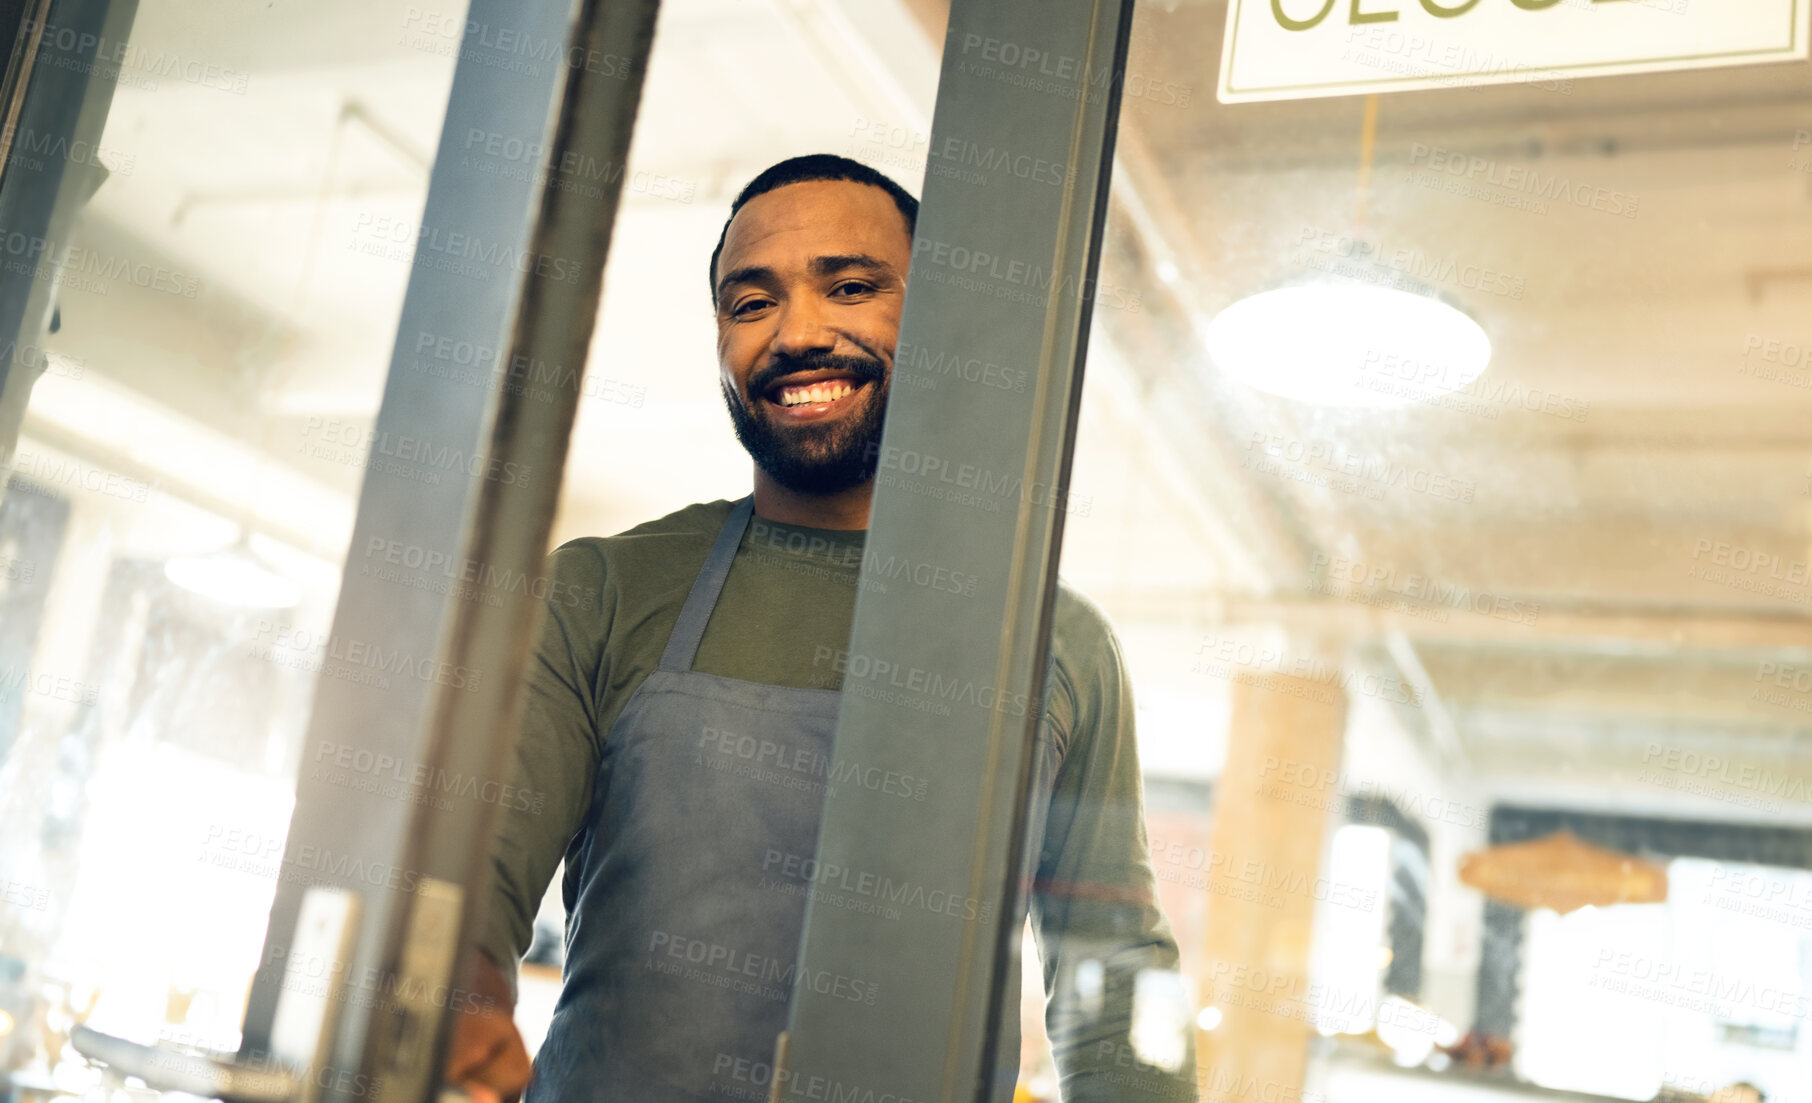
[{"label": "olive green shirt sleeve on the man's arm left of the apron", "polygon": [[569,543],[547,560],[547,609],[525,672],[522,732],[511,759],[516,801],[504,802],[491,848],[491,907],[478,949],[516,996],[547,882],[591,808],[602,735],[593,686],[602,685],[611,609],[603,556]]}]

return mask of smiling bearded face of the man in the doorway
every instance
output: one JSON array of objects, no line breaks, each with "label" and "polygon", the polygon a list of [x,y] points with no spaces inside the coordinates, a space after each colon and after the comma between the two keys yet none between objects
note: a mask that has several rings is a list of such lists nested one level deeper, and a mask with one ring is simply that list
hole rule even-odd
[{"label": "smiling bearded face of the man in the doorway", "polygon": [[774,482],[873,478],[911,232],[884,190],[815,179],[750,199],[718,257],[718,366],[736,436]]}]

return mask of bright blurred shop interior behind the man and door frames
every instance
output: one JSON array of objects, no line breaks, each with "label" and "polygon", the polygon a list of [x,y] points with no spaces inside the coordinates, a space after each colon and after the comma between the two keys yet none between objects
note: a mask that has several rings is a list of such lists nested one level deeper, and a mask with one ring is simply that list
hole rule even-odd
[{"label": "bright blurred shop interior behind the man and door frames", "polygon": [[[556,542],[747,493],[730,197],[803,152],[919,192],[946,14],[663,5]],[[1225,16],[1136,13],[1062,556],[1131,665],[1205,1098],[1812,1099],[1807,63],[1221,105]],[[80,1021],[237,1043],[462,31],[140,5],[14,351],[16,1098],[96,1087]],[[1330,301],[1292,328],[1357,373],[1272,393],[1229,308],[1316,273],[1446,302],[1482,373]],[[531,1045],[558,895],[540,929]]]}]

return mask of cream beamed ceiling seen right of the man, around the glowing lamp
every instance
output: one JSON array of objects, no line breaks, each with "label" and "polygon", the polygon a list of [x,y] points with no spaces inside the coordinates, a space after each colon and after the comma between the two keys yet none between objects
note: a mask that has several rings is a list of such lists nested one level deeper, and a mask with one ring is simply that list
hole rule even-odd
[{"label": "cream beamed ceiling seen right of the man, around the glowing lamp", "polygon": [[[1381,96],[1361,196],[1364,101],[1214,103],[1223,22],[1223,4],[1140,13],[1129,69],[1203,103],[1127,103],[1123,158],[1180,279],[1160,284],[1147,333],[1114,326],[1147,395],[1189,397],[1190,471],[1229,529],[1216,547],[1261,556],[1263,581],[1239,596],[1207,580],[1198,618],[1399,638],[1484,791],[1756,815],[1743,784],[1658,770],[1669,750],[1709,750],[1798,779],[1767,815],[1805,820],[1812,695],[1772,681],[1812,661],[1812,373],[1756,368],[1779,368],[1763,362],[1769,340],[1812,348],[1812,176],[1790,167],[1812,69]],[[1471,192],[1428,187],[1455,158],[1488,167]],[[1518,208],[1491,183],[1518,174],[1624,201]],[[1314,408],[1205,362],[1200,321],[1348,261],[1354,241],[1415,257],[1484,326],[1491,366],[1464,402]],[[1470,266],[1497,277],[1468,281]],[[1292,444],[1408,476],[1308,485],[1294,476],[1326,469],[1292,467]],[[1277,453],[1277,471],[1252,469]],[[1415,493],[1419,475],[1470,500]],[[1707,578],[1758,554],[1778,567]],[[1450,590],[1489,594],[1491,612],[1430,599]],[[1712,791],[1680,791],[1694,782]]]}]

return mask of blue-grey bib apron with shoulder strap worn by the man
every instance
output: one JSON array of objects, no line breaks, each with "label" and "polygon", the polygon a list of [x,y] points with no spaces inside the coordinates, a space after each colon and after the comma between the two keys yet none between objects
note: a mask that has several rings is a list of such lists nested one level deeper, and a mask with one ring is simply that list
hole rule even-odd
[{"label": "blue-grey bib apron with shoulder strap worn by the man", "polygon": [[[730,511],[660,668],[603,743],[567,855],[578,882],[565,976],[529,1103],[768,1096],[806,902],[776,891],[786,878],[765,864],[817,853],[839,692],[692,670],[752,514],[752,498]],[[1018,1063],[1011,1018],[997,1098],[1011,1096]]]}]

